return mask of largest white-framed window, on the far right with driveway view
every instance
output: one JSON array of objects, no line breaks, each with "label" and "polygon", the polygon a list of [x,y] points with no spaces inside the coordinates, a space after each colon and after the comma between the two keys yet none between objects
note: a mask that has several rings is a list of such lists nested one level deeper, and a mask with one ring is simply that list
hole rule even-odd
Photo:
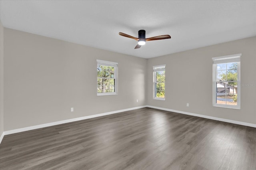
[{"label": "largest white-framed window, on the far right with driveway view", "polygon": [[240,56],[212,58],[213,106],[240,109]]}]

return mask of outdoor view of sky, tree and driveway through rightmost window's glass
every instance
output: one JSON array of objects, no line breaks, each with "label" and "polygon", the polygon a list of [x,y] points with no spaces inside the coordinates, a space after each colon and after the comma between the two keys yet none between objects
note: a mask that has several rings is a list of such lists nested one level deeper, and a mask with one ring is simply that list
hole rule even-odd
[{"label": "outdoor view of sky, tree and driveway through rightmost window's glass", "polygon": [[216,103],[237,105],[238,63],[217,64]]}]

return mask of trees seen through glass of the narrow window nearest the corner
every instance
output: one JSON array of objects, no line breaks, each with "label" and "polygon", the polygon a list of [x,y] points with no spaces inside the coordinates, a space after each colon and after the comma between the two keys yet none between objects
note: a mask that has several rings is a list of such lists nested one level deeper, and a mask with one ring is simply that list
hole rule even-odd
[{"label": "trees seen through glass of the narrow window nearest the corner", "polygon": [[155,96],[165,98],[165,71],[156,71]]}]

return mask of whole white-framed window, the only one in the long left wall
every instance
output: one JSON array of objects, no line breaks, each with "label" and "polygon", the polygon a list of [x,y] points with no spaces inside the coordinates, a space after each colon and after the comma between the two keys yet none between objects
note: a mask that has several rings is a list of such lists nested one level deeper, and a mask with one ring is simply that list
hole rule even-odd
[{"label": "whole white-framed window, the only one in the long left wall", "polygon": [[118,63],[97,59],[97,95],[117,95]]}]

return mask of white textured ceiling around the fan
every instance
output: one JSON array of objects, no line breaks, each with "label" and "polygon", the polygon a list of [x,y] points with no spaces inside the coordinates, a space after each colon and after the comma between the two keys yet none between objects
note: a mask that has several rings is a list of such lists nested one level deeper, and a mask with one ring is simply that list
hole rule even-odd
[{"label": "white textured ceiling around the fan", "polygon": [[[151,58],[256,36],[256,1],[0,0],[4,27],[109,51]],[[146,38],[137,42],[123,32]]]}]

